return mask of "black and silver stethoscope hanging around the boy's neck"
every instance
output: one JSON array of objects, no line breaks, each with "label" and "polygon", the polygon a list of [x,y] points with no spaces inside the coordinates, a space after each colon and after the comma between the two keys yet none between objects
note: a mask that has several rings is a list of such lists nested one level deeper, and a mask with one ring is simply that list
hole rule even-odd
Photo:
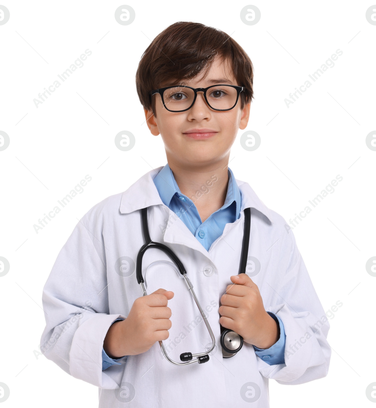
[{"label": "black and silver stethoscope hanging around the boy's neck", "polygon": [[[194,301],[196,302],[196,305],[198,309],[200,310],[202,319],[205,322],[205,325],[209,331],[210,337],[211,337],[211,348],[209,350],[205,350],[203,353],[196,353],[192,354],[190,352],[187,353],[182,353],[180,354],[180,360],[183,361],[182,363],[178,363],[167,355],[165,346],[163,345],[163,341],[159,341],[159,345],[161,346],[161,350],[163,355],[166,357],[166,359],[172,363],[175,364],[176,366],[185,366],[187,364],[191,363],[196,363],[198,362],[199,364],[206,363],[209,361],[209,353],[214,349],[215,347],[215,337],[213,335],[213,331],[211,330],[211,327],[209,325],[209,322],[207,321],[207,318],[204,314],[204,311],[202,310],[202,307],[200,305],[200,302],[198,302],[196,293],[194,293],[193,286],[191,284],[191,281],[187,277],[187,271],[185,270],[185,267],[183,263],[180,261],[180,259],[177,257],[177,255],[170,249],[168,246],[165,244],[161,244],[160,242],[154,242],[150,238],[149,234],[149,227],[147,225],[147,207],[141,209],[141,218],[142,218],[142,229],[143,229],[143,235],[145,238],[145,244],[141,246],[140,251],[137,255],[137,261],[136,261],[136,277],[137,277],[137,282],[141,285],[142,291],[143,291],[143,296],[146,296],[146,282],[144,281],[144,278],[142,276],[142,259],[149,248],[158,248],[161,249],[163,252],[165,252],[171,259],[174,261],[175,265],[177,266],[179,273],[183,276],[185,279],[185,283],[187,284],[188,290],[191,292]],[[249,246],[249,233],[251,231],[251,208],[244,208],[244,235],[243,235],[243,243],[242,243],[242,255],[240,258],[240,266],[239,266],[239,273],[245,273],[246,272],[246,265],[247,265],[247,257],[248,257],[248,246]],[[153,262],[153,264],[156,264],[157,262]],[[171,262],[168,261],[163,261],[162,263],[169,264],[170,266],[174,266]],[[151,265],[153,265],[151,264]],[[151,266],[149,265],[149,267]],[[148,267],[148,268],[149,268]],[[176,268],[175,268],[176,269]],[[146,279],[146,277],[145,277]],[[145,285],[144,285],[145,283]],[[146,287],[145,287],[146,286]],[[220,343],[222,346],[222,357],[224,358],[229,358],[233,357],[243,346],[243,337],[235,333],[231,329],[226,329],[222,326],[220,326],[221,330],[221,337],[220,337]],[[193,359],[193,357],[196,357],[196,359]]]}]

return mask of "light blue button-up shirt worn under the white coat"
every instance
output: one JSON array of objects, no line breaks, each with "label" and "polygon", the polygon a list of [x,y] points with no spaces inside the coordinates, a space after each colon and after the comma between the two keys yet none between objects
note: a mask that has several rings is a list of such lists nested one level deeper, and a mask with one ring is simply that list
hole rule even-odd
[{"label": "light blue button-up shirt worn under the white coat", "polygon": [[[218,180],[218,177],[213,175],[202,188],[196,193],[194,197],[187,197],[181,193],[172,170],[169,165],[166,164],[163,169],[154,177],[154,184],[158,190],[159,196],[163,204],[169,207],[170,210],[180,217],[180,219],[187,226],[189,231],[198,239],[198,242],[209,251],[211,244],[222,235],[224,227],[229,222],[235,222],[240,217],[240,203],[241,193],[237,182],[231,169],[229,173],[229,184],[227,186],[226,199],[223,206],[210,215],[204,222],[201,222],[201,217],[198,213],[197,207],[194,204],[197,200],[200,200],[202,195],[207,194],[210,188]],[[284,326],[278,316],[268,312],[273,319],[279,324],[280,336],[278,341],[273,346],[267,349],[261,349],[253,346],[256,355],[262,358],[270,366],[274,364],[284,364],[284,351],[286,343],[286,335],[284,332]],[[115,320],[115,322],[121,319]],[[241,351],[240,351],[241,353]],[[121,364],[119,359],[112,359],[108,357],[104,349],[102,349],[102,370],[114,365]]]}]

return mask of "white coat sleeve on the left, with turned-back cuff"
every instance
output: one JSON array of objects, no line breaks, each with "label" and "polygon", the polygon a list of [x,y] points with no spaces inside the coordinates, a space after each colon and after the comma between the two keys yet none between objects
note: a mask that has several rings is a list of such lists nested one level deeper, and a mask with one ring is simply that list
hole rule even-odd
[{"label": "white coat sleeve on the left, with turned-back cuff", "polygon": [[44,286],[41,350],[73,377],[116,388],[102,370],[103,340],[112,322],[126,316],[109,314],[102,228],[92,220],[86,215],[75,226]]}]

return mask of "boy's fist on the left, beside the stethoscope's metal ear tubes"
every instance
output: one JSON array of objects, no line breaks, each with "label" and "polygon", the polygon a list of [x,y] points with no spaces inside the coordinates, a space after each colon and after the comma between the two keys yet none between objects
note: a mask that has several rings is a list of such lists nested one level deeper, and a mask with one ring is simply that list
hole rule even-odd
[{"label": "boy's fist on the left, beside the stethoscope's metal ear tubes", "polygon": [[172,326],[167,301],[174,292],[158,289],[151,295],[138,297],[128,317],[110,326],[103,348],[111,358],[144,353],[159,340],[168,339]]}]

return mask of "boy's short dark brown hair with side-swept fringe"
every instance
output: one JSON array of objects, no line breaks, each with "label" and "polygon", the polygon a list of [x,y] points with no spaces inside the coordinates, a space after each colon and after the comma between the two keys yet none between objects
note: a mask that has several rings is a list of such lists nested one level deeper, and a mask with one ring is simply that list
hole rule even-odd
[{"label": "boy's short dark brown hair with side-swept fringe", "polygon": [[145,109],[155,115],[155,97],[149,91],[171,80],[183,80],[198,75],[202,78],[218,55],[228,59],[240,86],[241,107],[253,98],[253,65],[247,53],[229,35],[204,24],[179,21],[161,33],[143,53],[136,72],[136,89]]}]

